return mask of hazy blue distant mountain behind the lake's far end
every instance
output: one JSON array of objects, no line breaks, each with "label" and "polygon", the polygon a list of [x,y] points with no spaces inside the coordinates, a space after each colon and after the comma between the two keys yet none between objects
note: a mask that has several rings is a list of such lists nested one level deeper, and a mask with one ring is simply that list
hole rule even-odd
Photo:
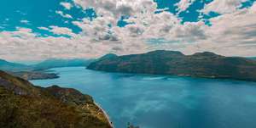
[{"label": "hazy blue distant mountain behind the lake's far end", "polygon": [[87,66],[92,62],[92,59],[61,59],[61,58],[50,58],[44,60],[39,64],[34,64],[32,67],[35,70],[47,70],[51,68],[60,68],[60,67],[79,67],[79,66]]}]

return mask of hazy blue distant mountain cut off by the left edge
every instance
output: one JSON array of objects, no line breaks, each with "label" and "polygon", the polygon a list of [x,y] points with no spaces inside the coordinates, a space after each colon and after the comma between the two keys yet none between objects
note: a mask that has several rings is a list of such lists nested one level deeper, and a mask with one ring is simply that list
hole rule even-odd
[{"label": "hazy blue distant mountain cut off by the left edge", "polygon": [[0,59],[0,70],[9,70],[9,71],[31,70],[31,67],[25,64],[12,63],[12,62],[8,62],[6,60]]}]

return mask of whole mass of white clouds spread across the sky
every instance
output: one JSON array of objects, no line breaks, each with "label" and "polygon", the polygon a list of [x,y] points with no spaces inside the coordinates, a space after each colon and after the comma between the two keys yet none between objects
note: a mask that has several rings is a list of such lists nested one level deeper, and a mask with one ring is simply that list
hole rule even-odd
[{"label": "whole mass of white clouds spread across the sky", "polygon": [[[183,11],[194,2],[182,0],[176,5]],[[93,8],[97,14],[95,19],[72,21],[81,29],[79,33],[56,25],[38,29],[58,36],[38,36],[27,28],[1,31],[0,47],[6,50],[0,52],[0,57],[96,58],[105,53],[145,53],[156,49],[187,54],[212,51],[229,56],[256,55],[256,3],[240,9],[237,7],[244,1],[231,2],[235,0],[214,0],[207,4],[201,12],[213,11],[221,15],[209,19],[212,25],[206,25],[203,21],[183,23],[166,8],[157,8],[153,0],[73,0],[73,6],[83,10]],[[217,5],[223,8],[213,8]],[[72,18],[61,11],[56,13]],[[127,16],[124,21],[128,25],[116,25],[121,16]]]}]

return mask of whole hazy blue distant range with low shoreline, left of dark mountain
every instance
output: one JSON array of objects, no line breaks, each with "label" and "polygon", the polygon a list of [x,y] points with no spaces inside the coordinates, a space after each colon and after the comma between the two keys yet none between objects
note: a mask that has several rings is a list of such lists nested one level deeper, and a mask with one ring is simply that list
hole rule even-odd
[{"label": "whole hazy blue distant range with low shoreline, left of dark mountain", "polygon": [[57,74],[48,73],[44,70],[61,67],[87,66],[93,59],[58,59],[51,58],[38,64],[26,65],[8,62],[0,59],[0,70],[9,72],[26,80],[42,80],[59,78]]}]

